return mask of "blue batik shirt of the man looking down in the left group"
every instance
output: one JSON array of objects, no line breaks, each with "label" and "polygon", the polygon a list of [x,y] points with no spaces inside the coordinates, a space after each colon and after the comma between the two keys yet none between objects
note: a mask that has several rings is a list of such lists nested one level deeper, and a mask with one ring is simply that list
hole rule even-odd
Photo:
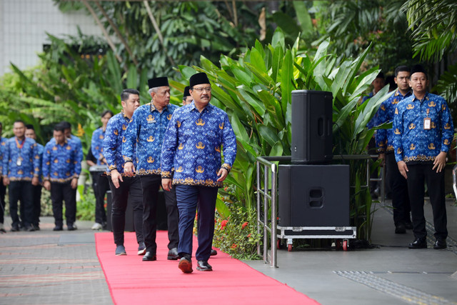
[{"label": "blue batik shirt of the man looking down in the left group", "polygon": [[44,181],[65,183],[81,173],[79,147],[70,139],[63,144],[57,144],[54,138],[46,143],[42,162]]}]

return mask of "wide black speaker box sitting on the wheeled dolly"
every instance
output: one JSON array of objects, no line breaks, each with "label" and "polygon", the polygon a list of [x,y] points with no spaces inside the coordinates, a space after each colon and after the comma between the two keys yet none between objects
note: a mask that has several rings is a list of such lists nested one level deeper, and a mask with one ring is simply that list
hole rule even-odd
[{"label": "wide black speaker box sitting on the wheeled dolly", "polygon": [[349,226],[348,165],[279,165],[279,226]]}]

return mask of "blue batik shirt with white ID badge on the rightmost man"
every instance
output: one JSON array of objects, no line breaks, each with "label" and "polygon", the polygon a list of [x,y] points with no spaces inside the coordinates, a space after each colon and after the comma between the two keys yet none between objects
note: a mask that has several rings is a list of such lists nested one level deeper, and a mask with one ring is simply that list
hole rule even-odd
[{"label": "blue batik shirt with white ID badge on the rightmost man", "polygon": [[[431,129],[423,129],[424,119]],[[448,152],[453,140],[453,122],[446,101],[429,94],[422,101],[411,95],[397,105],[393,116],[393,147],[396,161],[433,163],[441,151]]]}]

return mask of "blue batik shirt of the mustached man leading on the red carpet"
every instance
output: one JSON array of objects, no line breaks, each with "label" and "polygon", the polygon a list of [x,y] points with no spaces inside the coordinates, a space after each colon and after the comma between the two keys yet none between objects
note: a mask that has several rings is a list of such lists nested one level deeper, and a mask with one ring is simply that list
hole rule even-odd
[{"label": "blue batik shirt of the mustached man leading on the red carpet", "polygon": [[199,112],[194,102],[174,111],[162,146],[162,178],[171,178],[174,169],[173,184],[221,187],[217,174],[221,167],[230,171],[235,157],[236,136],[225,111],[208,104]]}]

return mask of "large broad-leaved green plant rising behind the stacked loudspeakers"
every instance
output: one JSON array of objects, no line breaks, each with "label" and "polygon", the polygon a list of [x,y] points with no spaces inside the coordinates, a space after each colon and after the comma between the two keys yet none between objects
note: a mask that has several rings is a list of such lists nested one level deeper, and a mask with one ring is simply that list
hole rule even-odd
[{"label": "large broad-leaved green plant rising behind the stacked loudspeakers", "polygon": [[[358,104],[361,94],[378,74],[376,68],[358,72],[369,48],[357,59],[345,59],[337,65],[336,56],[328,54],[329,44],[323,41],[313,56],[298,53],[297,44],[287,48],[281,29],[277,29],[271,44],[262,46],[257,41],[237,61],[221,56],[220,68],[203,56],[200,67],[179,67],[185,79],[195,71],[206,72],[214,85],[211,103],[229,114],[237,136],[238,155],[226,181],[235,186],[231,194],[234,201],[248,210],[254,209],[256,157],[291,154],[292,90],[331,91],[335,153],[365,152],[373,135],[366,124],[386,98],[387,87],[368,102]],[[365,179],[361,165],[352,162],[351,221],[358,226],[359,236],[368,239],[371,197],[368,189],[363,188]]]}]

